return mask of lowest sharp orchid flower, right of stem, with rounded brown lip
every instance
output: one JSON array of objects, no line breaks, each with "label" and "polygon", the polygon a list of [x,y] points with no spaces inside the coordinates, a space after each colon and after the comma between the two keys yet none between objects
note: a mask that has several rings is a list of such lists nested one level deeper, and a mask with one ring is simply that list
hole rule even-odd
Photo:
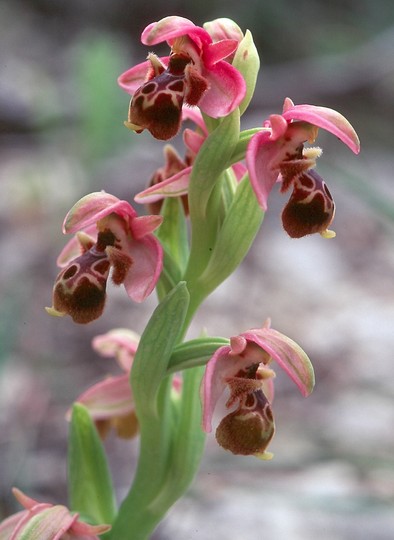
[{"label": "lowest sharp orchid flower, right of stem, with rounded brown lip", "polygon": [[209,360],[202,381],[203,429],[212,430],[212,416],[226,387],[226,407],[236,409],[220,422],[218,443],[233,454],[270,459],[266,452],[275,424],[272,413],[275,361],[307,396],[314,385],[313,367],[306,353],[293,340],[270,328],[252,329],[233,337]]}]

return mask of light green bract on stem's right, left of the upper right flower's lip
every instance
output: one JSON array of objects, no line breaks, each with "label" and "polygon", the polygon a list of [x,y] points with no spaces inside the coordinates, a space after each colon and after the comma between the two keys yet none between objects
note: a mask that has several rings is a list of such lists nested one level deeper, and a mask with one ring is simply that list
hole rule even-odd
[{"label": "light green bract on stem's right, left of the upper right flower's lip", "polygon": [[199,284],[205,293],[213,291],[244,259],[264,217],[249,178],[238,185],[233,203],[217,236],[208,266]]}]

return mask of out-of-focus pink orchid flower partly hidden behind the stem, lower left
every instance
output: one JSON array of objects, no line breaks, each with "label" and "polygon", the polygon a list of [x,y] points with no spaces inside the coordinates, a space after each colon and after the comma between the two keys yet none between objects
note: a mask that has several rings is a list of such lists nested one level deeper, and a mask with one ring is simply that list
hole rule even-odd
[{"label": "out-of-focus pink orchid flower partly hidden behind the stem, lower left", "polygon": [[[93,348],[102,356],[115,357],[124,373],[106,377],[83,392],[77,403],[84,405],[104,438],[114,427],[121,438],[131,438],[138,431],[129,374],[139,336],[126,328],[116,328],[93,338]],[[67,418],[70,418],[68,411]]]}]

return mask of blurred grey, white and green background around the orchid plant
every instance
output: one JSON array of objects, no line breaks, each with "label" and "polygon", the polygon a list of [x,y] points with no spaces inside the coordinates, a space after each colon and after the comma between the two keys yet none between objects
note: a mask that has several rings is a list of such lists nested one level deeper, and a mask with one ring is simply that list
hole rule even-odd
[{"label": "blurred grey, white and green background around the orchid plant", "polygon": [[[205,326],[231,336],[270,316],[313,360],[314,393],[304,400],[278,373],[274,460],[234,457],[208,437],[195,483],[154,538],[392,539],[392,0],[1,2],[0,515],[19,509],[14,485],[66,502],[65,412],[116,373],[91,339],[117,326],[141,332],[155,306],[111,288],[103,317],[86,327],[44,311],[69,208],[101,189],[132,201],[162,165],[162,144],[123,126],[129,97],[116,78],[146,57],[143,28],[170,14],[199,25],[229,17],[253,33],[262,69],[243,128],[281,112],[289,96],[345,114],[362,152],[320,133],[337,238],[288,239],[285,199],[273,194],[252,251],[190,334]],[[110,436],[106,447],[122,497],[138,441]]]}]

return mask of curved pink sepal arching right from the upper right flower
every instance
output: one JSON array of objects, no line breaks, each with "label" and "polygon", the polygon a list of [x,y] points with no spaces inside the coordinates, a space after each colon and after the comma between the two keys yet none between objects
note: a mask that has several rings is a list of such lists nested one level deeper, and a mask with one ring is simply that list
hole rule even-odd
[{"label": "curved pink sepal arching right from the upper right flower", "polygon": [[325,129],[338,137],[355,154],[360,151],[360,141],[353,126],[342,114],[333,109],[315,105],[294,105],[286,109],[283,117],[288,121],[302,120]]}]

